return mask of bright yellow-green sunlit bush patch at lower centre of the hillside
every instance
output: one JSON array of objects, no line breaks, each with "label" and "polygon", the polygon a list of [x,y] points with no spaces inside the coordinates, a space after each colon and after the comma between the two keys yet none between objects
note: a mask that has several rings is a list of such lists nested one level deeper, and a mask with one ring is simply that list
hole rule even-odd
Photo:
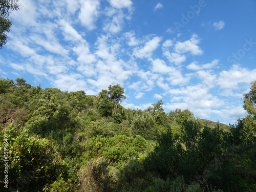
[{"label": "bright yellow-green sunlit bush patch at lower centre of the hillside", "polygon": [[139,158],[141,154],[153,150],[153,142],[141,136],[127,137],[115,135],[114,137],[96,137],[84,145],[83,157],[86,160],[102,156],[111,165],[121,167],[123,164]]}]

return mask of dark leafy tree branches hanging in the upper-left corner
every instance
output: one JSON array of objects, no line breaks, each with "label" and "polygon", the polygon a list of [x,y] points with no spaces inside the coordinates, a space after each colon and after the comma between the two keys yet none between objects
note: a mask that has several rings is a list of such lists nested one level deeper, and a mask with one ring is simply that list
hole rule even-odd
[{"label": "dark leafy tree branches hanging in the upper-left corner", "polygon": [[0,49],[7,43],[7,32],[12,25],[9,16],[9,10],[18,10],[18,0],[0,0]]}]

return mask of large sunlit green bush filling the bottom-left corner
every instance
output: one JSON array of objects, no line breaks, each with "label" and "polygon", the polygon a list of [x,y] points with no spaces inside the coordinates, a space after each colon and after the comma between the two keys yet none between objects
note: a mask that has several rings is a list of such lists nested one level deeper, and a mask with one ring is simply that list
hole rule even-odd
[{"label": "large sunlit green bush filling the bottom-left corner", "polygon": [[[49,140],[31,135],[28,129],[13,124],[1,131],[0,139],[4,140],[5,136],[8,138],[8,183],[11,190],[41,191],[44,185],[50,184],[63,172],[65,165]],[[0,151],[4,157],[2,147]],[[3,163],[0,168],[4,170]]]}]

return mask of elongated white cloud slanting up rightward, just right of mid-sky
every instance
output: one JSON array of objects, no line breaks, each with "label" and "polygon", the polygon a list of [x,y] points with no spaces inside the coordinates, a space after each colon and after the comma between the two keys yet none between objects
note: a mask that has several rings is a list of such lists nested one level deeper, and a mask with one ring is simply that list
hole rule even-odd
[{"label": "elongated white cloud slanting up rightward, just right of mid-sky", "polygon": [[158,48],[160,41],[161,37],[154,37],[152,40],[146,42],[143,48],[135,48],[134,55],[138,58],[151,57],[153,51]]}]

